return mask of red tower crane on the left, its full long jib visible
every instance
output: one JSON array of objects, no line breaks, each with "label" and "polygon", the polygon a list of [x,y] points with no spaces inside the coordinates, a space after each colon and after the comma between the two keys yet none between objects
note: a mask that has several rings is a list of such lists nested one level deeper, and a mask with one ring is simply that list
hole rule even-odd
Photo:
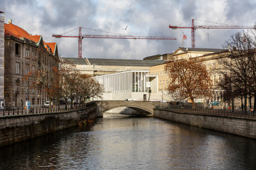
[{"label": "red tower crane on the left, its full long jib visible", "polygon": [[[52,37],[61,38],[61,37],[68,37],[68,38],[78,38],[78,58],[82,58],[82,39],[83,38],[115,38],[115,39],[176,39],[170,36],[113,36],[113,35],[82,35],[83,27],[79,27],[79,34],[78,35],[66,35],[64,34],[52,34]],[[78,29],[78,28],[77,28]],[[73,29],[72,31],[74,31]],[[70,31],[68,31],[70,32]],[[104,31],[102,31],[104,32]]]}]

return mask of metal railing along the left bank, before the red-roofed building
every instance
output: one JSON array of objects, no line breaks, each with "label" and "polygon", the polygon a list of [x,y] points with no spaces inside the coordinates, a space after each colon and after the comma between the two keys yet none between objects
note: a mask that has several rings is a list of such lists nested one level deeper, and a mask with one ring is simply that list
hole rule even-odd
[{"label": "metal railing along the left bank, before the red-roofed building", "polygon": [[74,111],[82,110],[90,106],[95,105],[95,102],[88,102],[86,104],[68,104],[60,106],[52,106],[51,110],[49,107],[44,106],[31,106],[29,109],[26,109],[24,106],[20,107],[4,107],[0,110],[0,117],[12,116],[12,115],[28,115],[28,114],[40,114],[40,113],[59,113],[64,111]]}]

